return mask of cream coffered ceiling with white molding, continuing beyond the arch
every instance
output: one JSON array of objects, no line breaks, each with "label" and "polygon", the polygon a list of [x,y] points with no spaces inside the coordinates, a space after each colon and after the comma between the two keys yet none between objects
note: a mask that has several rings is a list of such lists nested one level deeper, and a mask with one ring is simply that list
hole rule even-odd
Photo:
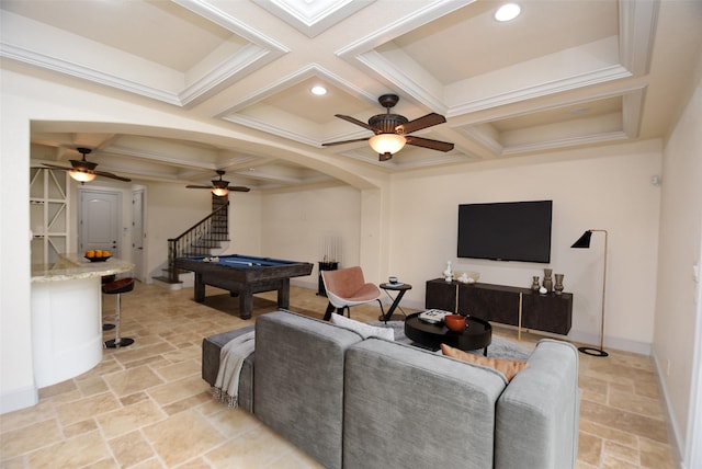
[{"label": "cream coffered ceiling with white molding, continuing beyond the arch", "polygon": [[[373,169],[524,158],[664,137],[699,54],[702,3],[648,0],[1,0],[3,61],[92,82],[173,113],[287,141]],[[317,96],[313,85],[328,92]],[[381,162],[359,121],[384,113],[448,122]],[[101,170],[203,183],[215,170],[253,190],[331,181],[246,145],[169,135],[33,126],[33,158],[93,148]]]}]

